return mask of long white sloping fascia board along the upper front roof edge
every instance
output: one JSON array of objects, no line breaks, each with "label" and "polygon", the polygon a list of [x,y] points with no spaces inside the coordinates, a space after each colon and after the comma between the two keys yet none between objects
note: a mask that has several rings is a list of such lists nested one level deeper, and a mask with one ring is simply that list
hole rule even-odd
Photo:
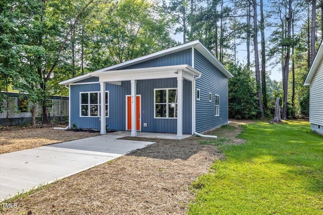
[{"label": "long white sloping fascia board along the upper front roof edge", "polygon": [[200,43],[199,40],[194,40],[194,41],[191,41],[191,42],[188,42],[188,43],[184,43],[184,44],[181,44],[181,45],[178,45],[178,46],[174,46],[172,48],[164,49],[164,50],[157,51],[157,52],[154,52],[154,53],[142,56],[142,57],[138,57],[138,58],[135,58],[135,59],[132,59],[132,60],[128,60],[128,61],[116,64],[116,65],[101,68],[101,69],[98,69],[96,71],[93,71],[93,73],[112,70],[112,69],[118,69],[118,68],[121,68],[121,67],[124,67],[124,66],[130,66],[130,65],[135,64],[135,63],[140,63],[140,62],[143,62],[143,61],[147,61],[149,59],[153,59],[153,58],[156,58],[156,57],[161,57],[161,56],[164,56],[164,55],[167,55],[167,54],[171,54],[171,53],[174,53],[174,52],[178,52],[178,51],[187,49],[187,47],[194,46],[194,45],[196,45],[198,43]]}]

